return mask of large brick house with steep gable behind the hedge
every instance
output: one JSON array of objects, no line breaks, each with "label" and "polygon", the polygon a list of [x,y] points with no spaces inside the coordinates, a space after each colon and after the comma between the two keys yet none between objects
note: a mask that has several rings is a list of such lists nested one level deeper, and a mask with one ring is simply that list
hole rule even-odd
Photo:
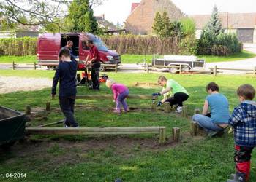
[{"label": "large brick house with steep gable behind the hedge", "polygon": [[151,34],[157,12],[167,12],[170,20],[180,20],[185,16],[170,0],[142,0],[140,3],[132,4],[125,28],[134,34]]}]

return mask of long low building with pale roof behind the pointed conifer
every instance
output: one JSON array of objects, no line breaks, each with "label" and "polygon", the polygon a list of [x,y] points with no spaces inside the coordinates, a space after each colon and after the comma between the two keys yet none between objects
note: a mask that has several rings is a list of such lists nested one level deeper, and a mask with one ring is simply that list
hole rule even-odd
[{"label": "long low building with pale roof behind the pointed conifer", "polygon": [[[211,15],[191,15],[190,17],[195,20],[197,38],[199,38]],[[256,13],[222,12],[219,13],[219,19],[222,20],[222,28],[226,32],[237,33],[239,41],[256,43]]]}]

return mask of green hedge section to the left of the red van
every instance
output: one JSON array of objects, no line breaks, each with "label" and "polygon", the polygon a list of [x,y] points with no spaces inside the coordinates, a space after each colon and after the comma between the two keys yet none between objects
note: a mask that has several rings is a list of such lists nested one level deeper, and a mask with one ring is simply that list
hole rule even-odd
[{"label": "green hedge section to the left of the red van", "polygon": [[37,38],[0,39],[0,55],[36,55]]}]

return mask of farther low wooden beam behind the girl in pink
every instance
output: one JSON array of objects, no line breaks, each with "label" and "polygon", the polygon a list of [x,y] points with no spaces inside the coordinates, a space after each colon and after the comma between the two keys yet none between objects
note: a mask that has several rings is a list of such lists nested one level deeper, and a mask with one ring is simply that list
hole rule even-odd
[{"label": "farther low wooden beam behind the girl in pink", "polygon": [[[129,99],[152,99],[152,95],[128,95]],[[113,99],[113,95],[76,95],[76,99]]]}]

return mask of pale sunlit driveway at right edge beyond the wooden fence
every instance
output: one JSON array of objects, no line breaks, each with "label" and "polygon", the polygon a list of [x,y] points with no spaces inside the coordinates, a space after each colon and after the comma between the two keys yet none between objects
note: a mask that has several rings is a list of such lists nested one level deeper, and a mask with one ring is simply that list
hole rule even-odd
[{"label": "pale sunlit driveway at right edge beyond the wooden fence", "polygon": [[[256,44],[244,44],[244,50],[254,52],[256,54]],[[208,68],[213,68],[215,65],[219,68],[253,69],[256,66],[256,57],[246,59],[246,60],[236,60],[236,61],[218,62],[218,63],[206,63],[206,70],[208,70]],[[245,74],[245,72],[246,71],[225,71],[225,70],[223,70],[224,74]]]}]

